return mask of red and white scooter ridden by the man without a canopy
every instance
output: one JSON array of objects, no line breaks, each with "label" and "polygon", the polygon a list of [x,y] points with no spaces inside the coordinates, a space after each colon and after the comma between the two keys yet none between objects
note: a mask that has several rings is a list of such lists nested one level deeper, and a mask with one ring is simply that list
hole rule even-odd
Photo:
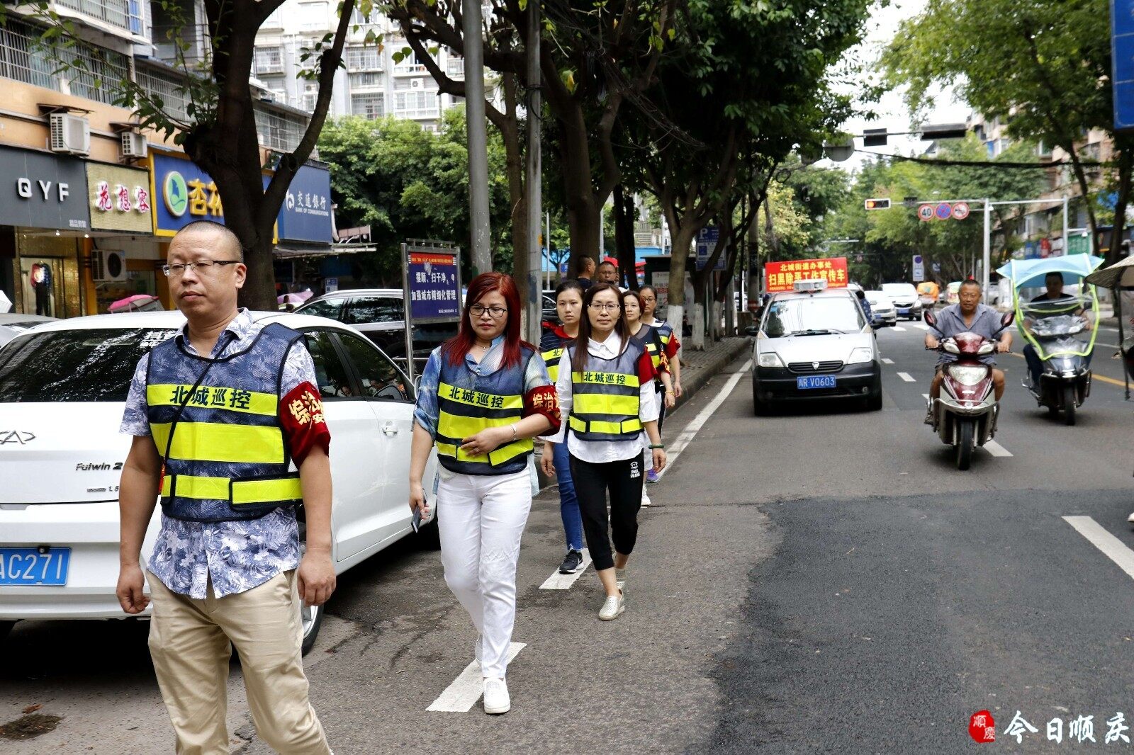
[{"label": "red and white scooter ridden by the man without a canopy", "polygon": [[[996,336],[1014,319],[1014,313],[1006,313]],[[925,313],[925,323],[937,326],[933,313]],[[996,347],[996,340],[966,332],[942,338],[936,349],[957,357],[956,362],[941,365],[941,393],[929,400],[929,409],[933,432],[942,443],[956,450],[958,469],[967,469],[976,447],[984,446],[996,435],[1000,405],[992,392],[992,366],[980,360],[982,356],[995,354]]]}]

